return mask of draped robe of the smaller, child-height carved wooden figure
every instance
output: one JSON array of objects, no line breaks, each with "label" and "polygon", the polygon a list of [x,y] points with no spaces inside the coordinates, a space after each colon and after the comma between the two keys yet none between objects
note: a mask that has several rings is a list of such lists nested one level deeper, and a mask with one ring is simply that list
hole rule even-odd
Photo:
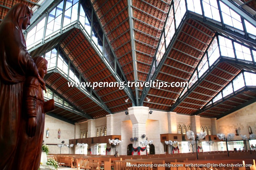
[{"label": "draped robe of the smaller, child-height carved wooden figure", "polygon": [[[24,92],[24,101],[26,103],[24,110],[26,111],[22,113],[19,138],[21,145],[17,149],[17,161],[23,163],[18,164],[17,169],[37,170],[40,166],[44,136],[44,94],[36,77],[28,77],[26,79]],[[34,137],[28,137],[26,133],[28,117],[36,117],[37,124]]]}]

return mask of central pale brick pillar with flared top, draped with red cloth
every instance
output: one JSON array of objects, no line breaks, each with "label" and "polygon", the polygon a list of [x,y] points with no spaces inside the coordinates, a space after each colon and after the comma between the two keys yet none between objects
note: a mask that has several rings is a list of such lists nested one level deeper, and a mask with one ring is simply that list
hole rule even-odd
[{"label": "central pale brick pillar with flared top, draped with red cloth", "polygon": [[[137,106],[137,107],[129,107],[128,108],[129,112],[129,117],[132,121],[132,137],[137,137],[138,141],[133,142],[132,146],[133,147],[145,147],[145,145],[141,145],[140,141],[141,135],[145,134],[146,135],[146,121],[148,119],[148,107],[142,107],[142,106]],[[134,152],[133,155],[137,155],[138,152]],[[146,155],[146,151],[140,152],[140,155]]]}]

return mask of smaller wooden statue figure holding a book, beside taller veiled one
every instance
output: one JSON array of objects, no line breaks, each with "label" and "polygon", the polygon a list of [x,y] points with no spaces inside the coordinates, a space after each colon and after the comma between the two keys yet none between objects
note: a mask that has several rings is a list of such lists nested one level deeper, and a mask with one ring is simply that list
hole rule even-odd
[{"label": "smaller wooden statue figure holding a book, beside taller veiled one", "polygon": [[[47,74],[47,60],[41,56],[33,58],[39,75]],[[35,169],[40,166],[44,135],[45,113],[54,109],[54,100],[44,102],[43,88],[36,77],[27,77],[24,88],[24,111],[20,124],[17,149],[17,169]],[[29,161],[28,161],[29,160]]]}]

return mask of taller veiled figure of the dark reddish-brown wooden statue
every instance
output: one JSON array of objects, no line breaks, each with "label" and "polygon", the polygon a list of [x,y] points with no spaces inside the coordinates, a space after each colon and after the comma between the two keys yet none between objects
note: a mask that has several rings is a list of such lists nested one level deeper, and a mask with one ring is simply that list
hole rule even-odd
[{"label": "taller veiled figure of the dark reddish-brown wooden statue", "polygon": [[[25,78],[43,78],[29,56],[22,29],[30,25],[31,9],[16,4],[0,23],[0,169],[12,169],[18,143]],[[41,140],[42,141],[42,140]],[[34,144],[32,144],[34,145]]]}]

